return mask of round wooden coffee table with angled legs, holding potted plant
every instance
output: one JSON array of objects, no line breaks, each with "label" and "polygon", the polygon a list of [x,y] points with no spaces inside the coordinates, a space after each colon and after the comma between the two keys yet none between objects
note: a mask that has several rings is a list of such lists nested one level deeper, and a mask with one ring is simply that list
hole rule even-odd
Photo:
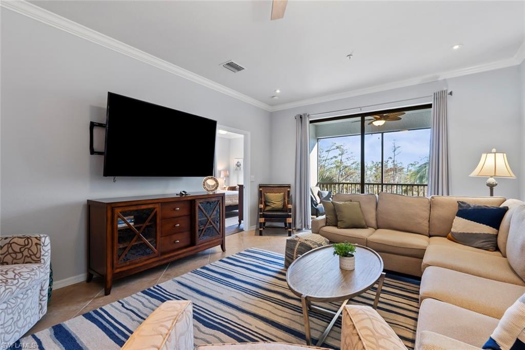
[{"label": "round wooden coffee table with angled legs, holding potted plant", "polygon": [[[375,283],[378,283],[378,285],[374,309],[377,308],[377,302],[379,301],[385,278],[383,259],[368,247],[354,246],[356,247],[355,270],[340,269],[339,257],[333,256],[333,247],[329,245],[302,254],[302,256],[291,263],[286,272],[288,287],[301,298],[304,336],[306,337],[307,345],[312,343],[308,316],[309,310],[329,314],[330,316],[333,315],[332,321],[319,338],[317,346],[320,346],[332,330],[335,321],[341,315],[343,307],[348,303],[348,300],[366,292]],[[337,312],[333,312],[323,307],[312,305],[312,301],[324,303],[342,301],[342,305]]]}]

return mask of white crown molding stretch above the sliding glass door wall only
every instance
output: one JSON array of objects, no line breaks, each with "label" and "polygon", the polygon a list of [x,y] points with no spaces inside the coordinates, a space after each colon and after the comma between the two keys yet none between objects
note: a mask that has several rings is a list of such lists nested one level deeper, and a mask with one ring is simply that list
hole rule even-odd
[{"label": "white crown molding stretch above the sliding glass door wall only", "polygon": [[314,97],[311,99],[305,99],[305,100],[289,102],[289,103],[282,103],[282,104],[274,105],[271,108],[271,112],[281,111],[281,110],[290,109],[290,108],[303,107],[309,104],[341,100],[345,98],[361,96],[361,95],[374,93],[374,92],[405,88],[405,87],[414,86],[414,85],[422,84],[426,82],[433,82],[433,81],[439,81],[443,79],[461,77],[461,76],[466,76],[469,74],[486,72],[489,70],[507,68],[507,67],[519,65],[523,61],[524,58],[525,58],[525,43],[520,46],[520,48],[516,52],[516,55],[514,55],[511,58],[506,58],[506,59],[502,59],[502,60],[495,61],[495,62],[483,63],[482,65],[477,65],[477,66],[472,66],[472,67],[467,67],[467,68],[444,71],[444,72],[440,72],[440,73],[433,74],[433,75],[420,76],[420,77],[401,80],[401,81],[394,81],[391,83],[375,85],[375,86],[371,86],[371,87],[367,87],[363,89],[350,90],[350,91],[330,94],[327,96]]}]

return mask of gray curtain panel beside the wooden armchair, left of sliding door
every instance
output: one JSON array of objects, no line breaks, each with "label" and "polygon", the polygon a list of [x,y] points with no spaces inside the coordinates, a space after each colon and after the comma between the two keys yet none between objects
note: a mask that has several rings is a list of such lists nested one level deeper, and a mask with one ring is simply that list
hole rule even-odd
[{"label": "gray curtain panel beside the wooden armchair, left of sliding door", "polygon": [[296,171],[293,184],[293,227],[309,229],[310,213],[310,121],[308,114],[296,115]]}]

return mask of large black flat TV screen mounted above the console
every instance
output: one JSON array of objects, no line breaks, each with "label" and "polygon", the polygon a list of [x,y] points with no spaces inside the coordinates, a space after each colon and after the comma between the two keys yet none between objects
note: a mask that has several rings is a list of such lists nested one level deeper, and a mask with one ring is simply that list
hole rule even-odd
[{"label": "large black flat TV screen mounted above the console", "polygon": [[104,176],[213,175],[217,121],[108,92]]}]

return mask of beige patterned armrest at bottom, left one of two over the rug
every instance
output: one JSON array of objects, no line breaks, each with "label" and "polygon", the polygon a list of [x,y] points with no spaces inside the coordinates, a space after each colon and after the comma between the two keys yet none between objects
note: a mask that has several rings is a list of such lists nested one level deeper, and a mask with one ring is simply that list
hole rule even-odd
[{"label": "beige patterned armrest at bottom, left one of two over the rug", "polygon": [[172,300],[162,303],[122,346],[122,350],[139,349],[193,349],[192,302]]}]

